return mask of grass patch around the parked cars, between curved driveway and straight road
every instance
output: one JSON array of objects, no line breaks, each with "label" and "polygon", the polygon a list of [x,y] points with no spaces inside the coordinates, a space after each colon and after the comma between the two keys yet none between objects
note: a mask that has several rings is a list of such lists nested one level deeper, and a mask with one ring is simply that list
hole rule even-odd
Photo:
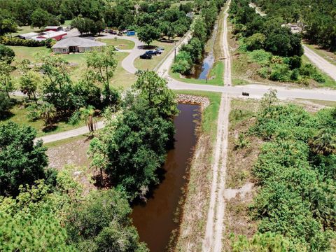
[{"label": "grass patch around the parked cars, between curved driveway and straight road", "polygon": [[161,60],[169,53],[172,48],[174,48],[174,43],[164,43],[160,41],[155,41],[151,45],[160,46],[165,48],[162,55],[153,56],[152,59],[140,59],[139,57],[134,60],[134,66],[139,70],[153,70],[155,66],[161,62]]}]

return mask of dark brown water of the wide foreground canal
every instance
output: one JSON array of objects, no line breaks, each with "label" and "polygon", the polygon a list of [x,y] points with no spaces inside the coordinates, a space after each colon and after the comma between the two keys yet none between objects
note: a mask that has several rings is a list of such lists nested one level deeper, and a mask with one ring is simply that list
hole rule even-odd
[{"label": "dark brown water of the wide foreground canal", "polygon": [[174,213],[181,199],[181,188],[186,185],[188,162],[193,155],[197,137],[195,128],[200,120],[200,106],[179,104],[181,113],[174,119],[176,129],[174,149],[169,151],[165,162],[164,180],[154,190],[146,204],[133,208],[134,226],[141,241],[148,244],[151,252],[163,252],[173,230],[179,228]]}]

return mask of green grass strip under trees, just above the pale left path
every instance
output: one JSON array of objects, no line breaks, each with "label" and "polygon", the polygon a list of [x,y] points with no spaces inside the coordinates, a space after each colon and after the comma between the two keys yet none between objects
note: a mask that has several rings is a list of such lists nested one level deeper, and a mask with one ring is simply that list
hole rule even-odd
[{"label": "green grass strip under trees, just above the pale left path", "polygon": [[21,104],[16,104],[15,106],[13,106],[13,108],[10,109],[10,112],[13,113],[13,116],[6,118],[4,120],[0,120],[0,123],[6,123],[9,120],[12,120],[13,122],[18,123],[20,125],[29,125],[31,127],[34,127],[34,129],[36,130],[36,133],[37,133],[36,137],[42,137],[47,134],[55,134],[59,132],[64,132],[66,130],[73,130],[73,129],[76,129],[77,127],[85,126],[84,121],[80,121],[78,125],[70,125],[65,122],[60,122],[60,123],[57,123],[55,130],[52,130],[50,132],[43,132],[43,127],[44,127],[43,120],[36,120],[34,122],[29,121],[27,118],[27,114],[29,113],[29,111],[27,110],[27,108],[25,108]]}]

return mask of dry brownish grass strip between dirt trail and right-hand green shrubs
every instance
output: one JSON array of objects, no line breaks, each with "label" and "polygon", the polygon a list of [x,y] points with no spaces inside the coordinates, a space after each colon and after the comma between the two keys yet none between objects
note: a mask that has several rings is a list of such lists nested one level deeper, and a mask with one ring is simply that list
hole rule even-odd
[{"label": "dry brownish grass strip between dirt trail and right-hand green shrubs", "polygon": [[[248,206],[251,204],[257,188],[253,185],[251,170],[260,153],[262,141],[246,134],[253,124],[253,116],[258,110],[258,101],[253,99],[233,99],[230,113],[230,131],[228,146],[228,163],[226,174],[226,190],[232,191],[232,197],[226,198],[225,235],[223,237],[224,251],[230,251],[230,234],[255,234],[257,223],[248,215]],[[237,148],[236,141],[239,134],[245,134],[248,146]],[[241,190],[243,186],[249,188]],[[232,190],[233,189],[233,190]],[[226,192],[225,192],[226,195]],[[230,193],[228,193],[230,195]]]}]

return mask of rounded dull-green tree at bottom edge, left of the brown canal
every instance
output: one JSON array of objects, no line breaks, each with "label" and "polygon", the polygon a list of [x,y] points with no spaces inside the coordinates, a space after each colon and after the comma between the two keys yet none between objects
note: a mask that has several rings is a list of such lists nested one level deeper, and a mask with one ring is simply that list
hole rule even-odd
[{"label": "rounded dull-green tree at bottom edge, left of the brown canal", "polygon": [[70,209],[66,221],[69,241],[80,251],[148,251],[131,226],[131,213],[123,193],[92,191]]}]

